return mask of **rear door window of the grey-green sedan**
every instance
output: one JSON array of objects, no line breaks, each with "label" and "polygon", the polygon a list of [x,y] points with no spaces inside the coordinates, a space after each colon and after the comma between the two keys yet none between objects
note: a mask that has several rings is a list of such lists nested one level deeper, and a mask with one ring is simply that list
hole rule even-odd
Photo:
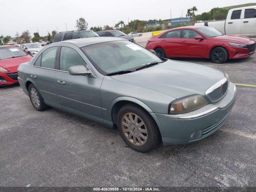
[{"label": "rear door window of the grey-green sedan", "polygon": [[54,69],[57,46],[46,49],[42,53],[41,67]]}]

